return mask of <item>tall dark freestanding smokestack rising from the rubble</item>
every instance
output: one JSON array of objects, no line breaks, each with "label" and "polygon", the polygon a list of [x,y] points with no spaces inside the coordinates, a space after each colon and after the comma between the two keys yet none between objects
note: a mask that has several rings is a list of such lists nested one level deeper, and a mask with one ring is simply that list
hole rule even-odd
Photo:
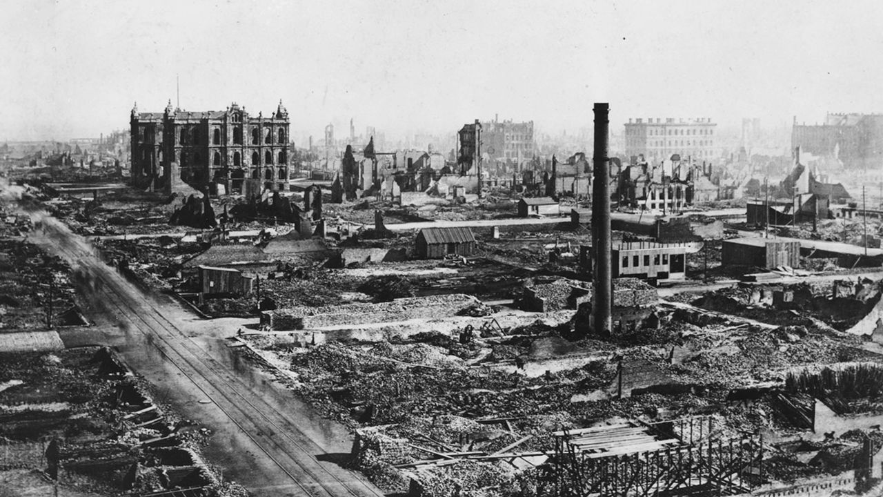
[{"label": "tall dark freestanding smokestack rising from the rubble", "polygon": [[595,149],[592,157],[594,187],[592,189],[592,323],[595,333],[609,334],[613,327],[613,279],[610,251],[610,161],[608,159],[608,126],[610,105],[595,103]]}]

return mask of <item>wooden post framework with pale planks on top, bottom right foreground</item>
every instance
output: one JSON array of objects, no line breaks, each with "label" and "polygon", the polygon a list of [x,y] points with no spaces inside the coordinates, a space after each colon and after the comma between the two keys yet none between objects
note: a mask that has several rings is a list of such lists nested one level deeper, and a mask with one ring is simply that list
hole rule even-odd
[{"label": "wooden post framework with pale planks on top, bottom right foreground", "polygon": [[555,432],[550,478],[558,497],[746,493],[762,478],[763,439],[725,438],[713,417]]}]

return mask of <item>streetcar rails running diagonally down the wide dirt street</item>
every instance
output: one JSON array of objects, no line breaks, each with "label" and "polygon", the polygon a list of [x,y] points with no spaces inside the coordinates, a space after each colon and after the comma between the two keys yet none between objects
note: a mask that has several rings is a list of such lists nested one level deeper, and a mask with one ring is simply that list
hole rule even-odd
[{"label": "streetcar rails running diagonally down the wide dirt street", "polygon": [[[47,226],[49,227],[49,226]],[[149,297],[140,294],[116,271],[95,258],[85,244],[75,243],[76,235],[64,233],[54,226],[57,244],[49,250],[64,250],[61,256],[92,269],[102,285],[94,289],[102,294],[102,303],[117,310],[119,317],[144,334],[170,363],[174,364],[218,409],[235,424],[253,444],[291,479],[293,486],[280,491],[309,497],[378,497],[379,489],[358,478],[349,470],[329,463],[320,463],[315,454],[324,453],[313,440],[301,432],[275,406],[264,400],[238,378],[233,371],[217,362],[191,338],[187,337],[168,317],[156,309]],[[49,228],[51,229],[51,228]]]}]

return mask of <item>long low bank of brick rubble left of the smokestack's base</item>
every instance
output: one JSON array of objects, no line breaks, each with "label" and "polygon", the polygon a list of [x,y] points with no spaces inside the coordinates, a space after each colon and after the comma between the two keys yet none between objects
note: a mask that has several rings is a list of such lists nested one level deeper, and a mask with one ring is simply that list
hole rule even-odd
[{"label": "long low bank of brick rubble left of the smokestack's base", "polygon": [[276,331],[318,328],[330,325],[363,325],[408,319],[437,319],[456,316],[457,312],[476,305],[471,295],[449,294],[407,297],[392,302],[357,302],[328,307],[298,306],[268,310],[260,315],[260,325]]}]

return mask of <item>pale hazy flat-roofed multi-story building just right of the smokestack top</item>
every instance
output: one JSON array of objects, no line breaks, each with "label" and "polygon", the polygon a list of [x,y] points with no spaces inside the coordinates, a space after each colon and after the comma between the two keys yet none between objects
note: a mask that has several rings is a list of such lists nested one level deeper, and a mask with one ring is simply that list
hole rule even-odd
[{"label": "pale hazy flat-roofed multi-story building just right of the smokestack top", "polygon": [[625,155],[664,160],[679,154],[707,160],[716,156],[716,126],[710,118],[629,119],[625,125]]}]

